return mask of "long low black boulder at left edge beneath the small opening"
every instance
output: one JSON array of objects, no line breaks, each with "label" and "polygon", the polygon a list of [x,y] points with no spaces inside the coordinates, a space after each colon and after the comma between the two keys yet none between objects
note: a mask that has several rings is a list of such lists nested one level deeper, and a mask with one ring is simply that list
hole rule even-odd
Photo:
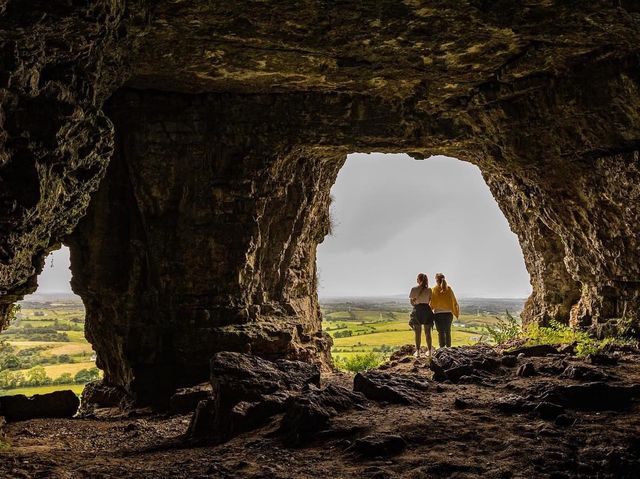
[{"label": "long low black boulder at left edge beneath the small opening", "polygon": [[73,391],[54,391],[27,397],[23,394],[0,397],[0,416],[8,422],[47,417],[72,417],[80,400]]}]

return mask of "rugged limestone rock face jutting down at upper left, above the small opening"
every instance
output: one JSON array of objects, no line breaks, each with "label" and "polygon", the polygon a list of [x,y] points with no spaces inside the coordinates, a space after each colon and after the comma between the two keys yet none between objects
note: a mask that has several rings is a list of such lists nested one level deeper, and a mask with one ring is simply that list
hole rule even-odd
[{"label": "rugged limestone rock face jutting down at upper left, above the small opening", "polygon": [[128,18],[120,1],[0,2],[0,327],[104,174]]}]

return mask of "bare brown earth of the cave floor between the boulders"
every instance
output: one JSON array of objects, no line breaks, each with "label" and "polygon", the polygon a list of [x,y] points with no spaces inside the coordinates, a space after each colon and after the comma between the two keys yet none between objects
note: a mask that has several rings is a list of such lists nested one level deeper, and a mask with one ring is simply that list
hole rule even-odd
[{"label": "bare brown earth of the cave floor between the boulders", "polygon": [[[537,369],[557,360],[527,359]],[[637,353],[601,369],[612,376],[610,384],[640,383]],[[431,376],[425,360],[410,358],[387,371]],[[581,384],[557,375],[518,377],[515,371],[493,384],[432,383],[420,406],[368,402],[335,417],[329,431],[300,448],[285,447],[275,437],[277,421],[215,447],[184,443],[189,416],[129,413],[17,422],[6,427],[10,447],[0,452],[0,477],[640,477],[638,403],[623,411],[572,411],[576,420],[570,426],[533,413],[498,412],[499,398],[549,384]],[[351,383],[342,374],[324,380]],[[356,438],[387,435],[402,436],[406,448],[373,458],[349,449]]]}]

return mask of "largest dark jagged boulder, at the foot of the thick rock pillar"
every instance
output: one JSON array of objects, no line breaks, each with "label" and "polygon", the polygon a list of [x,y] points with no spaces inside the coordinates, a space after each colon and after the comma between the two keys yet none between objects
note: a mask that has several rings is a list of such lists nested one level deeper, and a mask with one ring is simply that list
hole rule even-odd
[{"label": "largest dark jagged boulder, at the foot of the thick rock pillar", "polygon": [[266,424],[284,412],[287,401],[310,385],[320,385],[320,370],[301,361],[268,361],[224,351],[210,363],[212,399],[200,401],[188,437],[222,443]]}]

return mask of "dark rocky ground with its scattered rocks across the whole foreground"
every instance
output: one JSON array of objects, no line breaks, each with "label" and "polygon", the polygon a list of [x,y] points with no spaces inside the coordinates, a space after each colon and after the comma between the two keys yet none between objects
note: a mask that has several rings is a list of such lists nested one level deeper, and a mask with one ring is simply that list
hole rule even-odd
[{"label": "dark rocky ground with its scattered rocks across the whole foreground", "polygon": [[[274,392],[275,366],[225,357],[225,367],[244,361],[241,374],[226,378],[227,392],[235,387],[253,402],[216,421],[246,424],[255,417],[249,404],[261,414],[257,429],[211,445],[186,435],[190,414],[97,410],[82,419],[15,422],[5,428],[10,446],[0,453],[0,476],[640,477],[637,350],[583,360],[548,347],[514,354],[453,348],[439,351],[432,365],[410,353],[407,347],[356,378],[323,376],[322,388],[309,379],[302,392],[298,373],[285,369],[291,394]],[[260,377],[246,370],[264,367]],[[268,394],[263,387],[258,398],[249,377],[268,382]]]}]

